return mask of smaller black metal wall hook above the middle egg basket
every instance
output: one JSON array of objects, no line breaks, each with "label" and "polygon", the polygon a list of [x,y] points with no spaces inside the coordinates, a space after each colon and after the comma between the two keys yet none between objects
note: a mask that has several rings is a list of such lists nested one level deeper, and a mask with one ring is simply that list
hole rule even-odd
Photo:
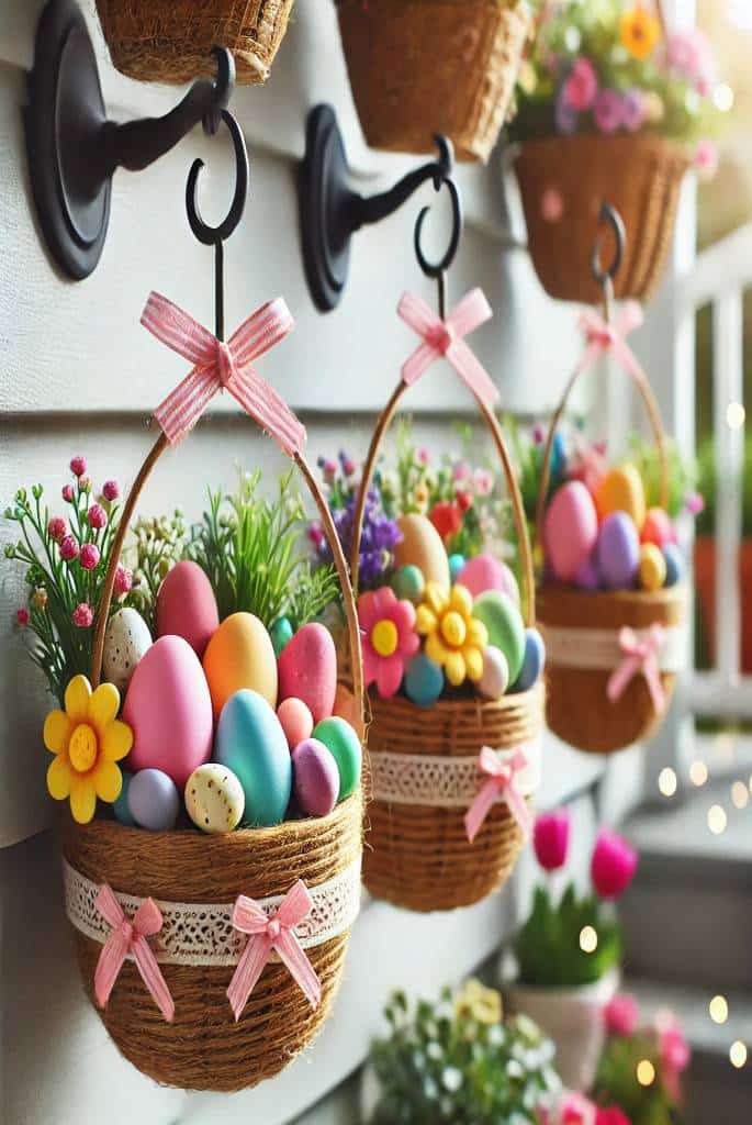
[{"label": "smaller black metal wall hook above the middle egg basket", "polygon": [[364,197],[350,187],[347,158],[334,109],[320,105],[310,110],[298,182],[300,235],[308,288],[323,313],[330,312],[342,299],[355,231],[393,214],[429,180],[437,188],[449,181],[454,164],[452,143],[437,136],[436,145],[437,160],[408,172],[389,191]]}]

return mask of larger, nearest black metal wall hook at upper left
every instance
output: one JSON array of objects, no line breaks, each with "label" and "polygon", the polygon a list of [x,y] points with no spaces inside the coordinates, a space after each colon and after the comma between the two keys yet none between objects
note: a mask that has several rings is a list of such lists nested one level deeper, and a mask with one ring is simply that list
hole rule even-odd
[{"label": "larger, nearest black metal wall hook at upper left", "polygon": [[37,25],[24,111],[31,190],[49,252],[80,280],[96,268],[107,237],[111,180],[170,152],[194,125],[215,133],[229,102],[235,63],[215,48],[216,81],[194,82],[164,117],[123,125],[107,118],[89,32],[75,0],[49,0]]}]

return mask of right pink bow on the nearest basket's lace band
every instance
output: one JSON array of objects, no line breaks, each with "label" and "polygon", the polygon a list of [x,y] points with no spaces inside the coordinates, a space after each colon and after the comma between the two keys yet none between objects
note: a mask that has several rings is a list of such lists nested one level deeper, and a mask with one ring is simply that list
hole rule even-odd
[{"label": "right pink bow on the nearest basket's lace band", "polygon": [[253,899],[238,894],[233,907],[232,922],[235,929],[250,934],[251,938],[227,989],[236,1020],[241,1018],[272,951],[287,965],[311,1008],[318,1007],[321,983],[295,932],[298,922],[308,917],[312,906],[314,901],[301,879],[290,888],[273,918],[269,918]]}]

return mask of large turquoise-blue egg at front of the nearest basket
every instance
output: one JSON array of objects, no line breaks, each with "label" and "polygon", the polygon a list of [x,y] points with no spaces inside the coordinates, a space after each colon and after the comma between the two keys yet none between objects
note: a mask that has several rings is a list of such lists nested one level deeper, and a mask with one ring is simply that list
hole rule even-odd
[{"label": "large turquoise-blue egg at front of the nearest basket", "polygon": [[243,786],[243,824],[263,827],[284,819],[292,790],[290,750],[263,695],[248,687],[230,695],[217,723],[214,756]]}]

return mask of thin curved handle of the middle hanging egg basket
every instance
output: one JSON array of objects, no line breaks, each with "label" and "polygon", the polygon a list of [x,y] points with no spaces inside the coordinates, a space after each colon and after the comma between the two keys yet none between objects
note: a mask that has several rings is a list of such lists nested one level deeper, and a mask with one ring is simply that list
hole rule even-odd
[{"label": "thin curved handle of the middle hanging egg basket", "polygon": [[[357,590],[357,578],[360,573],[360,546],[361,537],[363,533],[363,516],[365,513],[365,498],[368,496],[369,488],[371,487],[371,480],[373,479],[373,471],[375,469],[375,464],[379,458],[379,452],[381,451],[381,446],[386,436],[387,430],[389,429],[391,421],[397,412],[399,400],[407,390],[408,385],[404,379],[397,384],[397,387],[392,392],[391,398],[384,406],[383,411],[379,415],[375,429],[373,431],[373,436],[371,438],[371,444],[369,447],[368,456],[363,465],[363,476],[361,479],[361,487],[357,494],[357,502],[355,505],[355,518],[354,518],[354,533],[353,533],[353,544],[350,557],[350,573],[352,575],[353,588]],[[525,603],[525,623],[527,626],[535,624],[535,578],[533,572],[533,551],[531,549],[529,536],[527,533],[527,522],[525,520],[525,510],[523,507],[523,498],[519,492],[519,485],[517,484],[517,477],[511,465],[511,459],[509,457],[509,451],[507,444],[504,440],[504,434],[501,432],[501,426],[499,421],[495,415],[493,411],[488,406],[482,398],[473,394],[478,407],[483,415],[483,420],[488,430],[493,439],[493,444],[499,454],[499,460],[501,462],[501,468],[504,470],[504,476],[507,482],[507,488],[509,492],[509,497],[511,500],[511,510],[515,521],[515,530],[517,532],[517,540],[519,543],[519,554],[523,570],[523,594]]]}]

